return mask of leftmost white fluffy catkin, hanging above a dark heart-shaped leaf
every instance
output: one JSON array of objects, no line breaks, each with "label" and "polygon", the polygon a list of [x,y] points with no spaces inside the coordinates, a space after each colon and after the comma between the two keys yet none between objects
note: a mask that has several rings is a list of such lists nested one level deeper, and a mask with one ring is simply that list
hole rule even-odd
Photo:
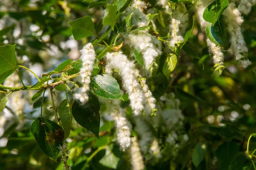
[{"label": "leftmost white fluffy catkin, hanging above a dark heart-shaped leaf", "polygon": [[93,49],[93,45],[88,43],[81,50],[81,61],[83,62],[83,67],[81,68],[79,74],[81,81],[84,86],[78,89],[78,92],[74,94],[74,98],[79,100],[81,103],[85,103],[88,101],[87,91],[90,89],[90,75],[93,71],[93,64],[95,62],[95,51]]}]

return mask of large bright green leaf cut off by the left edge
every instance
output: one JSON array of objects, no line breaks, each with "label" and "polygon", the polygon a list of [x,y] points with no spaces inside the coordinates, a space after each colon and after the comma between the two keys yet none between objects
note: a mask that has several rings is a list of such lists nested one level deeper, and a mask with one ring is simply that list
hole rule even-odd
[{"label": "large bright green leaf cut off by the left edge", "polygon": [[[16,45],[0,46],[0,73],[1,75],[4,75],[5,78],[11,75],[12,72],[14,72],[14,70],[17,68],[15,46]],[[13,71],[9,71],[9,70],[13,70]],[[2,81],[2,78],[1,78],[1,81]]]}]

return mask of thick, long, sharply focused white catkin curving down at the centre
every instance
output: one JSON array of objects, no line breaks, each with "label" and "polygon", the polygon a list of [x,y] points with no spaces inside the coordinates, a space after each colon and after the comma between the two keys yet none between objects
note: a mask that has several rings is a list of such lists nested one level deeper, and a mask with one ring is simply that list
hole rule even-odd
[{"label": "thick, long, sharply focused white catkin curving down at the centre", "polygon": [[139,115],[144,109],[143,101],[145,98],[140,83],[135,76],[134,62],[129,61],[127,56],[122,54],[122,52],[107,53],[106,58],[111,68],[119,70],[122,85],[129,95],[134,115]]}]

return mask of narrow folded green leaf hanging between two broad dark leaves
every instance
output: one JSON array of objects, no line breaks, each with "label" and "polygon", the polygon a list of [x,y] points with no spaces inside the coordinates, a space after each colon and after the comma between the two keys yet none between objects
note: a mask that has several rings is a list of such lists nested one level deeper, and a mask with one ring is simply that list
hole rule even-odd
[{"label": "narrow folded green leaf hanging between two broad dark leaves", "polygon": [[61,104],[58,107],[58,113],[61,118],[62,127],[64,130],[64,140],[70,135],[71,124],[72,124],[72,113],[71,106],[69,105],[67,99],[61,101]]}]

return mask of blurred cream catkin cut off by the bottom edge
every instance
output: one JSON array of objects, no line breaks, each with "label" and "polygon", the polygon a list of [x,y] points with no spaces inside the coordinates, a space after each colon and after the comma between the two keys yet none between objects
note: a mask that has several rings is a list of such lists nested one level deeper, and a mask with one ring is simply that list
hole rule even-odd
[{"label": "blurred cream catkin cut off by the bottom edge", "polygon": [[140,147],[137,142],[137,138],[134,137],[132,140],[133,144],[131,145],[130,155],[131,155],[131,165],[132,170],[144,170],[145,165],[143,161],[143,156],[140,153]]}]

